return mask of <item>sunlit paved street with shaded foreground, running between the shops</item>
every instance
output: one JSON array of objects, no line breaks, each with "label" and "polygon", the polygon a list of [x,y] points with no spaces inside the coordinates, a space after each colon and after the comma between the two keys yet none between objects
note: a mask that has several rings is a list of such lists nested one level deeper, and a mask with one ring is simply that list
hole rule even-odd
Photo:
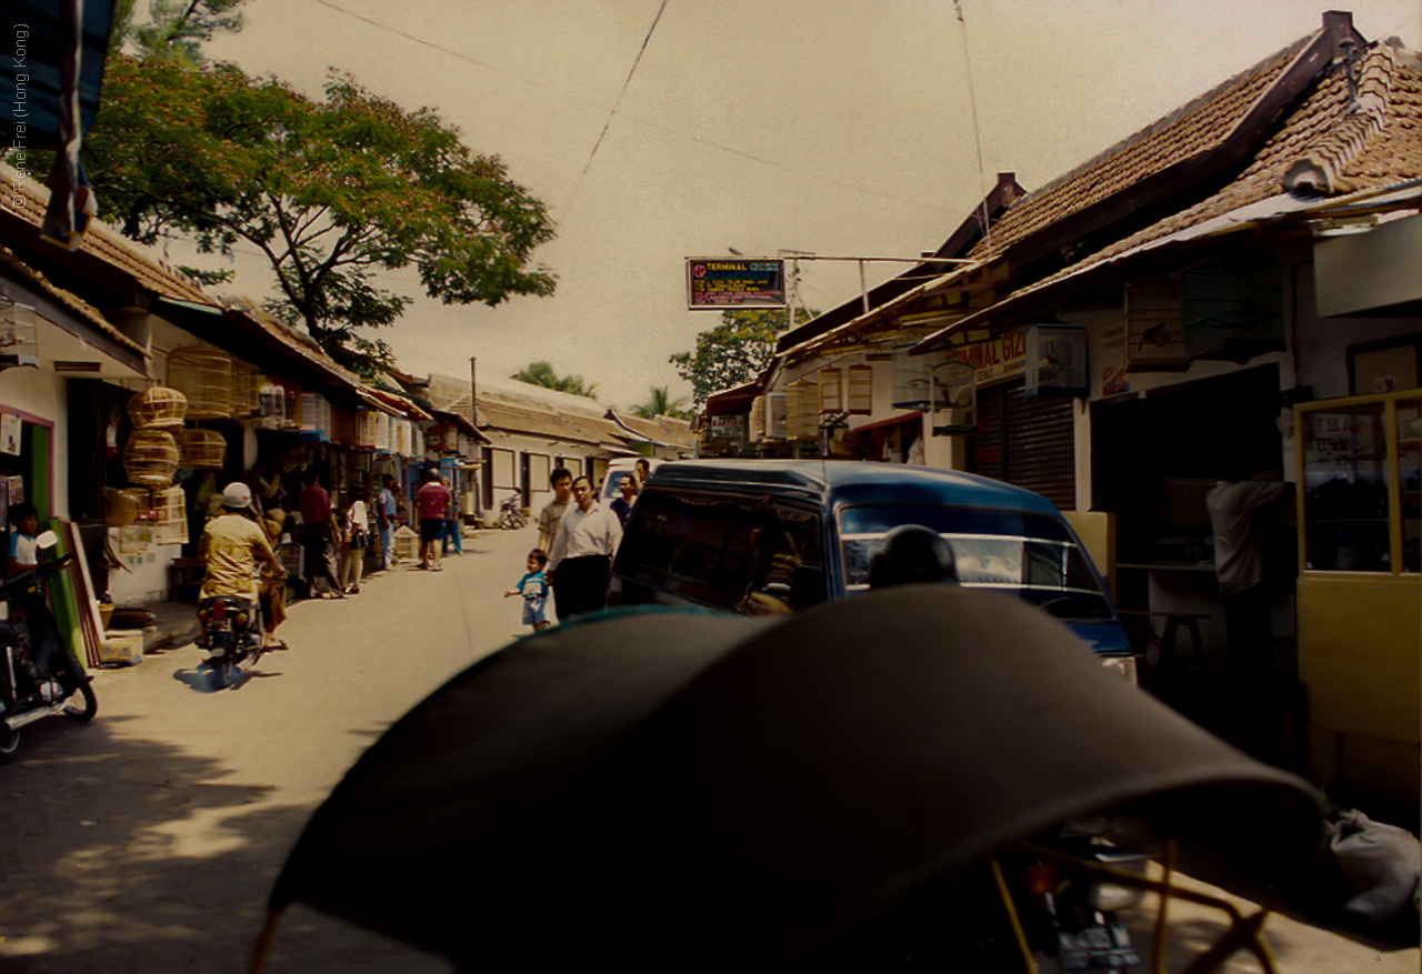
[{"label": "sunlit paved street with shaded foreground, running between the shops", "polygon": [[[526,631],[501,594],[532,543],[532,529],[486,532],[444,572],[397,569],[358,597],[299,603],[282,631],[293,650],[236,690],[212,692],[201,651],[179,647],[101,671],[94,724],[27,729],[21,759],[0,768],[0,971],[245,970],[277,870],[346,768],[431,690]],[[1219,921],[1172,919],[1177,941],[1197,947]],[[1288,917],[1270,920],[1267,940],[1294,974],[1419,968],[1416,947]],[[267,971],[326,970],[449,965],[293,909]]]}]

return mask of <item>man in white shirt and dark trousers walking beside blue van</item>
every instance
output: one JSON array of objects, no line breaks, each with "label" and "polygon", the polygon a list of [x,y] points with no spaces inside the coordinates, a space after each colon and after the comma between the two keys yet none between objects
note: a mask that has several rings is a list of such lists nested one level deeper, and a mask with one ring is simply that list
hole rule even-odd
[{"label": "man in white shirt and dark trousers walking beside blue van", "polygon": [[552,583],[559,621],[607,607],[613,552],[621,543],[617,515],[597,503],[586,476],[573,481],[573,506],[563,512],[543,577]]}]

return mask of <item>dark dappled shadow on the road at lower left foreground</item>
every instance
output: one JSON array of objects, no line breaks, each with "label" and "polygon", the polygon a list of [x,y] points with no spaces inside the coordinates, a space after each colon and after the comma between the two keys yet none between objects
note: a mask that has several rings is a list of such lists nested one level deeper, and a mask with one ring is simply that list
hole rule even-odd
[{"label": "dark dappled shadow on the road at lower left foreground", "polygon": [[[222,762],[122,734],[122,718],[26,729],[0,768],[0,968],[237,971],[310,813]],[[447,971],[316,913],[282,927],[267,970]]]}]

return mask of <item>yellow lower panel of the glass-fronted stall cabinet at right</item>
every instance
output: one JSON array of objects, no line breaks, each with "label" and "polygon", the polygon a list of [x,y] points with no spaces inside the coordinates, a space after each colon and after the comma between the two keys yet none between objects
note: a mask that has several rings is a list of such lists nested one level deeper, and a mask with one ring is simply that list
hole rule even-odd
[{"label": "yellow lower panel of the glass-fronted stall cabinet at right", "polygon": [[[1311,766],[1418,793],[1422,579],[1310,573],[1298,580],[1298,677],[1308,690]],[[1388,781],[1381,781],[1388,779]]]}]

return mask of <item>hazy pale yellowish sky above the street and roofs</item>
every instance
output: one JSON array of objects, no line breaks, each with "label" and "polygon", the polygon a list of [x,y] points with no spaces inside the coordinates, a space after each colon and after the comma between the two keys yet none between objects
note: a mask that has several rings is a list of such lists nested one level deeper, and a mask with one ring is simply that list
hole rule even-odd
[{"label": "hazy pale yellowish sky above the street and roofs", "polygon": [[[1422,47],[1418,0],[1340,6],[1367,38]],[[1327,9],[961,0],[960,23],[951,0],[249,0],[208,53],[313,94],[337,68],[432,107],[549,205],[557,239],[538,257],[557,294],[421,297],[383,331],[401,368],[464,375],[476,357],[493,377],[545,358],[630,407],[650,385],[688,395],[667,357],[718,320],[685,310],[684,257],[931,250],[997,172],[1041,186]],[[904,264],[869,267],[873,286]],[[412,273],[385,280],[418,294]],[[260,264],[235,287],[264,293]],[[859,272],[802,263],[801,293],[828,310]]]}]

